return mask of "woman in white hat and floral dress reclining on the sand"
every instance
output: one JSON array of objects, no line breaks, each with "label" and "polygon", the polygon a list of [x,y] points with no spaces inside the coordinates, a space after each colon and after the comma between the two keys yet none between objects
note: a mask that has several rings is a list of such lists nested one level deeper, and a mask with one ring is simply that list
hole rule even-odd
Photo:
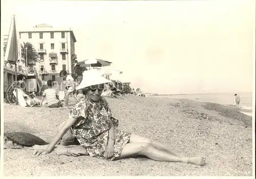
[{"label": "woman in white hat and floral dress reclining on the sand", "polygon": [[49,154],[59,140],[65,143],[74,135],[83,151],[70,152],[73,156],[88,152],[91,157],[119,160],[143,155],[155,161],[205,164],[205,158],[188,158],[157,141],[118,130],[118,120],[112,117],[107,101],[100,96],[104,83],[109,82],[95,71],[86,71],[77,87],[77,90],[83,89],[86,96],[77,101],[47,148],[35,149],[35,155]]}]

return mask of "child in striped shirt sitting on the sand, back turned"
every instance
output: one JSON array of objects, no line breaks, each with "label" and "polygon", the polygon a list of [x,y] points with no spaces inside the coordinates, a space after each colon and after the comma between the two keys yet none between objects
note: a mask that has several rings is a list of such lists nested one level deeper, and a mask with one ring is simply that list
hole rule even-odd
[{"label": "child in striped shirt sitting on the sand, back turned", "polygon": [[60,100],[58,99],[58,94],[55,89],[53,89],[54,82],[52,80],[47,81],[48,89],[46,89],[42,93],[42,100],[40,106],[42,105],[42,101],[44,101],[45,97],[47,97],[47,105],[49,108],[59,108],[62,107]]}]

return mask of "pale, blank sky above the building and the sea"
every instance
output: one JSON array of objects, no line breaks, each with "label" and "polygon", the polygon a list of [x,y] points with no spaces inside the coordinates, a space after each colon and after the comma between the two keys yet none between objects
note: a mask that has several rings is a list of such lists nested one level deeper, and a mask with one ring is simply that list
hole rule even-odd
[{"label": "pale, blank sky above the building and the sea", "polygon": [[111,78],[132,88],[159,94],[253,91],[255,1],[3,0],[1,39],[12,14],[18,29],[70,27],[78,61],[111,61],[112,69],[123,71]]}]

